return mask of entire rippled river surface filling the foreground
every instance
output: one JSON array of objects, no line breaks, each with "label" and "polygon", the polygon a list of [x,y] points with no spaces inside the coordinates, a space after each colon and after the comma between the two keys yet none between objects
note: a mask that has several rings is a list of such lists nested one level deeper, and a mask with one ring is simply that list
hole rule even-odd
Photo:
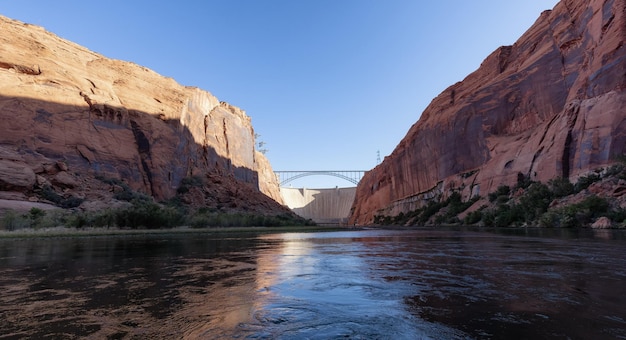
[{"label": "entire rippled river surface filling the foreground", "polygon": [[626,339],[626,235],[0,240],[0,339]]}]

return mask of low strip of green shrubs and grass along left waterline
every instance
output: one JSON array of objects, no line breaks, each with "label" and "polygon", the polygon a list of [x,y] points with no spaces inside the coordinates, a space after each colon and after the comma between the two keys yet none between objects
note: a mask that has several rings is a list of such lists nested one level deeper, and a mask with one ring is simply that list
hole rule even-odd
[{"label": "low strip of green shrubs and grass along left waterline", "polygon": [[[22,230],[106,230],[107,233],[146,230],[235,230],[268,228],[309,228],[312,220],[295,214],[263,215],[253,212],[224,212],[209,208],[159,204],[150,200],[133,200],[129,204],[99,211],[78,209],[4,210],[0,213],[0,236]],[[32,233],[32,232],[29,232]]]}]

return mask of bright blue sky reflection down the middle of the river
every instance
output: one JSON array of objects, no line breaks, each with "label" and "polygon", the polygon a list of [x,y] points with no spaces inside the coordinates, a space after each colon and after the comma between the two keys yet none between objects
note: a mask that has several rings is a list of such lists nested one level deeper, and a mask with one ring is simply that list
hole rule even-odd
[{"label": "bright blue sky reflection down the middle of the river", "polygon": [[[255,314],[255,336],[268,338],[427,338],[429,328],[451,335],[411,315],[400,291],[384,279],[369,276],[368,249],[355,233],[266,235],[282,240],[279,252],[262,253],[271,277],[261,309]],[[267,275],[270,274],[270,275]]]}]

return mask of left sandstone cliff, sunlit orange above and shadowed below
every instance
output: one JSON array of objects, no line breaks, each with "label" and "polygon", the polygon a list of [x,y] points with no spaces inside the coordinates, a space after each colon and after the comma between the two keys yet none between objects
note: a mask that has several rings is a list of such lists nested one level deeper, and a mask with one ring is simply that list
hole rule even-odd
[{"label": "left sandstone cliff, sunlit orange above and shadowed below", "polygon": [[97,177],[163,200],[210,175],[225,199],[283,209],[241,109],[40,27],[0,16],[0,29],[0,199],[37,201],[48,186],[106,200]]}]

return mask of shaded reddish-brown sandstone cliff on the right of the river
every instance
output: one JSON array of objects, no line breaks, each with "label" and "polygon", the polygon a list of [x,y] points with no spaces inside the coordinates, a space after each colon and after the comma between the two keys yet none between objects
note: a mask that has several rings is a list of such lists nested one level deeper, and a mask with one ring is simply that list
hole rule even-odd
[{"label": "shaded reddish-brown sandstone cliff on the right of the river", "polygon": [[357,188],[352,223],[519,174],[575,179],[626,146],[626,1],[563,0],[423,112]]}]

